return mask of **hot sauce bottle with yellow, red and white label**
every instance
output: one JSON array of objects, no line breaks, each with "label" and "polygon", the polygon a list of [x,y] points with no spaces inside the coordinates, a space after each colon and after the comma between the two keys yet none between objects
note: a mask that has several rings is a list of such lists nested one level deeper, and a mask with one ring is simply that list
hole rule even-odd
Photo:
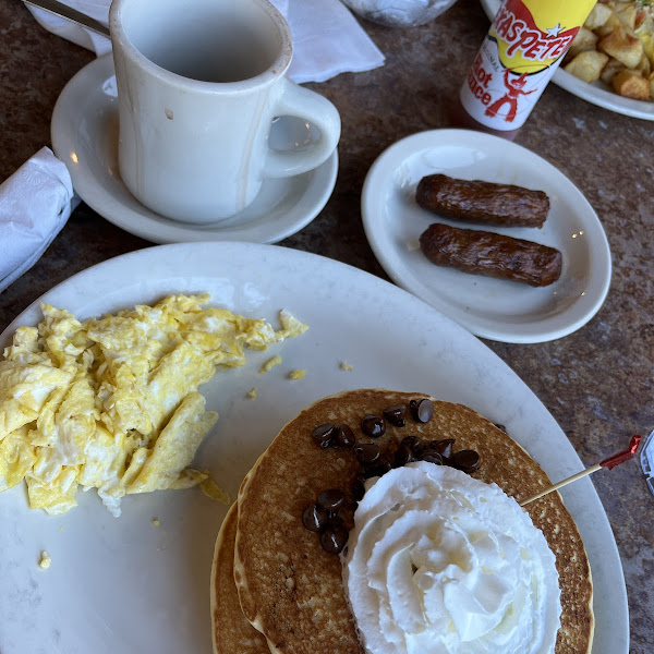
[{"label": "hot sauce bottle with yellow, red and white label", "polygon": [[459,93],[452,121],[512,140],[595,0],[504,0]]}]

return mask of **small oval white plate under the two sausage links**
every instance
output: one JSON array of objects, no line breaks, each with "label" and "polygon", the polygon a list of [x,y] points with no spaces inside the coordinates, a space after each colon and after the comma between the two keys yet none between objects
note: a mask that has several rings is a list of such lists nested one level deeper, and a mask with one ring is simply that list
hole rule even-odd
[{"label": "small oval white plate under the two sausage links", "polygon": [[[415,203],[419,181],[438,172],[545,191],[550,201],[545,225],[496,228],[440,218]],[[371,246],[392,280],[477,336],[516,343],[554,340],[583,326],[606,298],[610,251],[595,211],[554,166],[505,138],[468,130],[407,136],[371,167],[361,210]],[[433,222],[556,247],[564,256],[561,276],[533,288],[435,266],[419,245]]]}]

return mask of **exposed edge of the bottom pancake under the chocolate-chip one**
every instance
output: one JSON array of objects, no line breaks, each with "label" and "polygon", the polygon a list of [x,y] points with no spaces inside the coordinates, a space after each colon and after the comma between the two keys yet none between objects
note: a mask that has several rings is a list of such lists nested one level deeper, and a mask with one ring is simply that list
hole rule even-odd
[{"label": "exposed edge of the bottom pancake under the chocolate-chip one", "polygon": [[237,505],[220,528],[211,568],[211,635],[215,654],[269,654],[268,643],[241,611],[234,584]]}]

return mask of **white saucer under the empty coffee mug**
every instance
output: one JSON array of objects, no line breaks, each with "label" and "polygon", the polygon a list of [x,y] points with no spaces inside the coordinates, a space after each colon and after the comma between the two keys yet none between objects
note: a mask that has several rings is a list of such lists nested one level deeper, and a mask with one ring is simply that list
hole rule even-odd
[{"label": "white saucer under the empty coffee mug", "polygon": [[[312,130],[302,121],[279,119],[270,144],[280,149],[301,146]],[[281,241],[318,215],[338,171],[335,152],[313,171],[266,181],[244,211],[215,225],[184,225],[155,214],[132,196],[118,172],[118,97],[111,55],[89,63],[66,84],[52,112],[51,137],[80,197],[110,222],[155,243]]]}]

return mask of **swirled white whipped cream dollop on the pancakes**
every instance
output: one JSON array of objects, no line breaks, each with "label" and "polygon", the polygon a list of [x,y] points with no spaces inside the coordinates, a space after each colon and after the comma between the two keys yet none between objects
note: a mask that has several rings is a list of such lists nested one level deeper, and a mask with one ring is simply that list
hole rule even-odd
[{"label": "swirled white whipped cream dollop on the pancakes", "polygon": [[368,654],[554,652],[555,557],[514,499],[427,462],[371,482],[341,554]]}]

